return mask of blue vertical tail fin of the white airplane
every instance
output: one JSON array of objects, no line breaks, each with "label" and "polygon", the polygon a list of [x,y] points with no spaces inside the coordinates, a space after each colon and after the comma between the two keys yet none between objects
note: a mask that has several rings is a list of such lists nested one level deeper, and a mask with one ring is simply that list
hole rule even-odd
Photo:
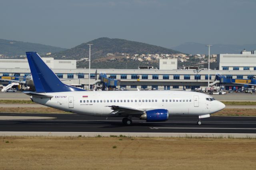
[{"label": "blue vertical tail fin of the white airplane", "polygon": [[38,53],[26,52],[26,55],[37,93],[85,91],[62,83]]}]

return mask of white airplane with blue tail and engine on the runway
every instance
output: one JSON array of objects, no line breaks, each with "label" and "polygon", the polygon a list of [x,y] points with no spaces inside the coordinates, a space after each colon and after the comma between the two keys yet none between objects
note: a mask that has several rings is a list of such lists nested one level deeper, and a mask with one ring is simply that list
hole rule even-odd
[{"label": "white airplane with blue tail and engine on the runway", "polygon": [[167,121],[173,115],[202,118],[225,108],[210,95],[193,91],[86,91],[66,85],[44,63],[36,52],[26,52],[36,92],[24,91],[41,105],[100,117],[124,117],[124,125],[132,125],[132,117],[147,122]]}]

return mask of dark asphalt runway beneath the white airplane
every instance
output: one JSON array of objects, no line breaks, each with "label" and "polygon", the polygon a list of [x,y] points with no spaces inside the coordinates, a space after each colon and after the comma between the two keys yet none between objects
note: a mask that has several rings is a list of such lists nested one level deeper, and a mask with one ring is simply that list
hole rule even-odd
[{"label": "dark asphalt runway beneath the white airplane", "polygon": [[[246,133],[256,134],[256,117],[210,117],[196,125],[196,117],[170,117],[165,122],[133,119],[124,126],[122,118],[90,117],[76,114],[1,113],[20,120],[0,120],[0,131],[12,132],[141,132],[141,133]],[[2,118],[1,118],[2,117]],[[40,119],[26,119],[40,117]],[[43,119],[45,117],[46,119]],[[52,119],[53,118],[53,119]]]}]

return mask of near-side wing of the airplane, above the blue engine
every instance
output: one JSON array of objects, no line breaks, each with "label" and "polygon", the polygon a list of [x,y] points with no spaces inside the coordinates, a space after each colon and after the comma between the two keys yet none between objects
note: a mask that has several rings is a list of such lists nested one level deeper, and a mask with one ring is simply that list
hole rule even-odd
[{"label": "near-side wing of the airplane, above the blue engine", "polygon": [[111,114],[113,115],[142,115],[144,113],[143,109],[134,109],[131,107],[123,107],[123,106],[106,106],[110,107],[113,111]]}]

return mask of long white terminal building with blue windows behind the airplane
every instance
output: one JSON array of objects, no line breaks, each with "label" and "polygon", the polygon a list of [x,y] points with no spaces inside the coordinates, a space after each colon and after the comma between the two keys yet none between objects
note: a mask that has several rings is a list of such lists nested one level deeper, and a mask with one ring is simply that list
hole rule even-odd
[{"label": "long white terminal building with blue windows behind the airplane", "polygon": [[[256,76],[256,54],[219,54],[220,69],[210,70],[210,85],[218,85],[216,75],[225,75],[230,79],[253,79]],[[4,62],[2,62],[4,61]],[[22,61],[22,62],[20,62]],[[30,74],[25,59],[0,59],[0,76],[26,76]],[[44,58],[46,64],[66,84],[80,84],[88,89],[89,70],[76,69],[76,60],[55,60]],[[26,66],[27,64],[27,66]],[[25,67],[26,66],[26,67]],[[207,69],[177,69],[177,59],[159,60],[159,69],[91,69],[90,84],[99,82],[99,74],[120,80],[117,88],[125,87],[129,90],[158,89],[180,90],[195,89],[208,86]],[[46,75],[47,76],[47,75]],[[241,88],[243,85],[225,84],[225,89]]]}]

